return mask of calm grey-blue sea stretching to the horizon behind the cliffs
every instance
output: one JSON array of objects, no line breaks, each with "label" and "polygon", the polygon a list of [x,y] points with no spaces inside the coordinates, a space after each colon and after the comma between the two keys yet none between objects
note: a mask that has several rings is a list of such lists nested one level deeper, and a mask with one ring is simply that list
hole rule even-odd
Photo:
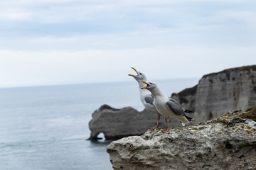
[{"label": "calm grey-blue sea stretching to the horizon behind the cliffs", "polygon": [[[199,78],[154,80],[166,94]],[[112,169],[104,135],[90,137],[92,113],[103,104],[142,111],[137,81],[0,89],[1,170]]]}]

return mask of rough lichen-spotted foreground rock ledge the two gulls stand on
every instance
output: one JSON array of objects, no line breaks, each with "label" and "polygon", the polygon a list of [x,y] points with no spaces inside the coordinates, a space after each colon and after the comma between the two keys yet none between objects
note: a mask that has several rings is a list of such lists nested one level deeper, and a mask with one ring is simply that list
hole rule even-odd
[{"label": "rough lichen-spotted foreground rock ledge the two gulls stand on", "polygon": [[107,146],[113,169],[256,169],[256,108]]}]

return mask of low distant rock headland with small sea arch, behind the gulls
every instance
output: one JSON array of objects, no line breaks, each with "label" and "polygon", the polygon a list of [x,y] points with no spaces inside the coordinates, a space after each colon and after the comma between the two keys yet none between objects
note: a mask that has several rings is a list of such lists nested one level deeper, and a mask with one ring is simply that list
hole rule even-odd
[{"label": "low distant rock headland with small sea arch, behind the gulls", "polygon": [[[146,110],[139,112],[134,108],[112,108],[101,106],[92,113],[89,128],[91,131],[88,140],[97,140],[102,132],[106,140],[114,140],[132,135],[143,135],[151,126],[156,125],[157,115]],[[181,126],[178,120],[171,122],[172,126]],[[164,117],[161,117],[160,126],[165,127]]]}]

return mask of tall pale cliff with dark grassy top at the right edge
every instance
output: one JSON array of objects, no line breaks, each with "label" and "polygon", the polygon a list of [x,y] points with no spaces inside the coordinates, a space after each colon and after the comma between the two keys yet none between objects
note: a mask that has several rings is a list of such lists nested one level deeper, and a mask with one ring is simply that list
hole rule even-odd
[{"label": "tall pale cliff with dark grassy top at the right edge", "polygon": [[181,106],[196,111],[196,123],[234,109],[256,105],[256,65],[207,74],[198,85],[172,94]]}]

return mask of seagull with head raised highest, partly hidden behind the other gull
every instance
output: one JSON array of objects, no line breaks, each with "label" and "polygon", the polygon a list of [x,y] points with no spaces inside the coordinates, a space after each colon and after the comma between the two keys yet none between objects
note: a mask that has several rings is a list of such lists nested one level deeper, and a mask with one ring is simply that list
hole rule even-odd
[{"label": "seagull with head raised highest, partly hidden behind the other gull", "polygon": [[[132,67],[132,69],[134,69],[134,67]],[[132,75],[132,74],[128,74],[128,75],[134,77],[134,79],[138,82],[139,96],[141,98],[141,101],[142,101],[144,107],[146,108],[147,111],[150,111],[151,113],[157,113],[153,106],[153,102],[154,102],[153,95],[151,94],[150,91],[148,91],[146,89],[142,89],[142,87],[144,87],[144,83],[142,83],[142,81],[147,81],[145,74],[137,71],[136,69],[134,69],[134,71],[137,73],[137,75]],[[156,126],[149,128],[151,130],[154,130],[155,128],[159,127],[160,115],[159,115],[159,113],[157,113],[157,115],[158,115],[158,117],[157,117]]]}]

